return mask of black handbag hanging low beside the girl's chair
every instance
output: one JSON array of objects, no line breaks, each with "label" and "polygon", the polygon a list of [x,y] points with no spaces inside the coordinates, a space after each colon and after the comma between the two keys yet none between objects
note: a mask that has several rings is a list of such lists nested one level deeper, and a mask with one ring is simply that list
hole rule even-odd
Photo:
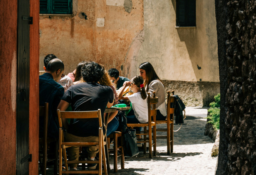
[{"label": "black handbag hanging low beside the girl's chair", "polygon": [[124,137],[124,153],[125,157],[133,157],[140,153],[137,146],[137,137],[135,129],[126,129],[126,132],[123,134]]}]

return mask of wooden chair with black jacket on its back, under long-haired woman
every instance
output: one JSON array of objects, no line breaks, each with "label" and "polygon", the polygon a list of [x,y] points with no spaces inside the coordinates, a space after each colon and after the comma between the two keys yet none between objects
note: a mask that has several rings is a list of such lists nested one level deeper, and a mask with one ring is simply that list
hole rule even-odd
[{"label": "wooden chair with black jacket on its back, under long-haired woman", "polygon": [[[174,93],[174,91],[172,91]],[[155,97],[155,94],[153,95]],[[167,135],[157,135],[157,139],[167,139],[167,154],[173,152],[173,115],[174,115],[175,98],[167,92],[167,118],[165,120],[154,120],[156,126],[158,124],[167,124],[166,128],[157,128],[157,132],[166,132]]]}]

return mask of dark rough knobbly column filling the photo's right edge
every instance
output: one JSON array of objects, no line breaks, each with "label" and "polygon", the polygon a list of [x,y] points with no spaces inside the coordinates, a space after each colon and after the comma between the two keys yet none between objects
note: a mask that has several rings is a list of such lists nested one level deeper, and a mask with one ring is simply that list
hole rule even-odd
[{"label": "dark rough knobbly column filling the photo's right edge", "polygon": [[[224,121],[221,116],[221,124],[225,125],[220,127],[220,131],[224,130],[220,137],[224,137],[226,141],[221,143],[220,140],[222,158],[219,158],[218,166],[221,163],[225,165],[220,165],[222,171],[226,171],[225,175],[255,175],[256,3],[249,0],[216,1],[216,11],[221,11],[218,15],[216,13],[217,21],[220,20],[220,24],[226,26],[226,34],[220,33],[218,44],[223,45],[225,39],[226,63],[220,64],[227,66],[227,75],[220,74],[221,82],[226,76],[226,81],[220,86],[221,91],[227,87],[226,104],[221,104],[221,110],[227,109],[227,112]],[[221,15],[223,19],[227,15],[226,21],[222,21]],[[218,30],[224,32],[217,25]],[[220,55],[219,59],[225,61]],[[216,175],[223,174],[220,173],[220,167]]]}]

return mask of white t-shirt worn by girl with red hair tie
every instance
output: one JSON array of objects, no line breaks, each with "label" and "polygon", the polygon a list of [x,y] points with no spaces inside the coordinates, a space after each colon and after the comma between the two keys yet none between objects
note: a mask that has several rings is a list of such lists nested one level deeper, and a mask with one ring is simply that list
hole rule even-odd
[{"label": "white t-shirt worn by girl with red hair tie", "polygon": [[148,103],[147,99],[142,99],[141,93],[133,93],[128,96],[131,101],[134,114],[140,123],[148,122]]}]

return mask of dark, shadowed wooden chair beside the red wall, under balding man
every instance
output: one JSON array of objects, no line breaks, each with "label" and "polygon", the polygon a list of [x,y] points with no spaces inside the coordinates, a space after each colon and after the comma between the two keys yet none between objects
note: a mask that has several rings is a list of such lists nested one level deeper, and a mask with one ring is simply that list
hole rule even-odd
[{"label": "dark, shadowed wooden chair beside the red wall, under balding man", "polygon": [[[41,167],[42,175],[46,175],[46,167],[47,162],[54,161],[54,175],[58,173],[58,140],[56,138],[47,137],[48,133],[48,111],[49,104],[44,103],[44,106],[39,106],[39,116],[44,117],[44,125],[43,125],[43,137],[39,138],[39,145],[42,149],[39,150],[39,160],[42,159],[42,162],[39,161],[39,165]],[[54,143],[54,159],[47,161],[47,143]]]}]

